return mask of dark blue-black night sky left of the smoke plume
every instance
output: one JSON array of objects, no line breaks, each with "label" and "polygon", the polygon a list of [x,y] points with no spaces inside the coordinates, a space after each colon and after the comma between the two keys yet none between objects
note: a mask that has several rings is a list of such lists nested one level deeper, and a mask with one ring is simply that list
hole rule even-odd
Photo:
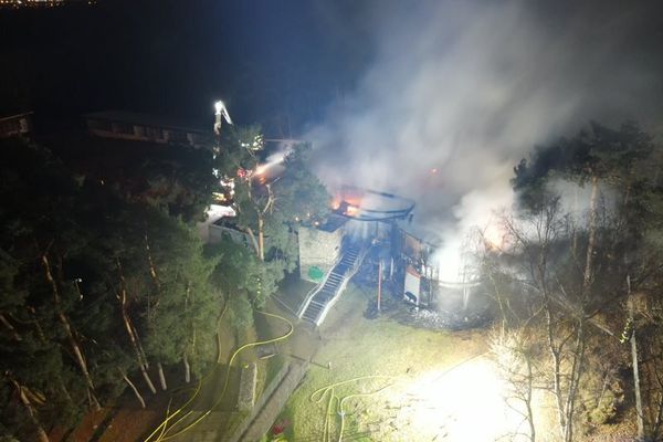
[{"label": "dark blue-black night sky left of the smoke plume", "polygon": [[350,1],[0,11],[0,115],[116,108],[206,124],[223,98],[238,122],[286,135],[351,90],[370,60],[361,20]]}]

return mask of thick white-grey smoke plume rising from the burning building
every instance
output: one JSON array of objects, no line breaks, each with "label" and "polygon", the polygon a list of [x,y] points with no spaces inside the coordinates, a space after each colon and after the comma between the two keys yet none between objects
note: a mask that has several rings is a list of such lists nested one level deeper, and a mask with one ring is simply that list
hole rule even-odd
[{"label": "thick white-grey smoke plume rising from the burning building", "polygon": [[511,206],[513,166],[534,145],[653,116],[660,76],[636,46],[648,6],[543,3],[376,3],[372,67],[306,136],[329,185],[417,201],[446,277],[471,229]]}]

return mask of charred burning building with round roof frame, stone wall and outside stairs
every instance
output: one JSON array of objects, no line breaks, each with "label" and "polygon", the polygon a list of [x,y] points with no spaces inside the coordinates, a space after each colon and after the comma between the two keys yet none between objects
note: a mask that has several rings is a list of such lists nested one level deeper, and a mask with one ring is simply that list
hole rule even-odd
[{"label": "charred burning building with round roof frame, stone wall and outside stairs", "polygon": [[[330,295],[325,297],[333,299],[341,284],[351,277],[349,269],[341,264],[345,261],[346,266],[358,266],[359,259],[373,270],[379,292],[389,286],[414,305],[432,303],[440,273],[432,260],[436,243],[417,231],[412,200],[344,186],[334,192],[333,209],[326,223],[299,228],[302,278],[319,283],[319,290]],[[346,259],[348,251],[351,260]],[[339,266],[344,273],[338,271]],[[312,301],[315,302],[315,296]],[[324,301],[327,303],[318,303],[324,304],[320,308],[329,304],[329,299]],[[307,303],[309,299],[304,303],[301,316],[319,324],[324,316],[307,317]]]}]

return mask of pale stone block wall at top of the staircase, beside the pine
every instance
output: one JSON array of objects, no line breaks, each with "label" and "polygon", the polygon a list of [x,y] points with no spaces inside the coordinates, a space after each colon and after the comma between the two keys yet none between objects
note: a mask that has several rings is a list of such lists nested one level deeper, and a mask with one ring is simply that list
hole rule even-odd
[{"label": "pale stone block wall at top of the staircase, beside the pine", "polygon": [[318,229],[299,228],[299,277],[305,281],[319,283],[316,271],[326,274],[340,253],[343,230],[325,232]]}]

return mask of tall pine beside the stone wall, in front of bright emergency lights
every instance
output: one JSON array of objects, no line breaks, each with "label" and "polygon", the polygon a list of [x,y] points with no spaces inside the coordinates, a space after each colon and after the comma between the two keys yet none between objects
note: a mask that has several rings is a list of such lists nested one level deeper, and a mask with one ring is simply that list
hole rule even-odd
[{"label": "tall pine beside the stone wall, in front of bright emergency lights", "polygon": [[[232,251],[227,242],[212,249],[221,259],[218,277],[234,281],[235,273],[231,274],[228,269],[236,269],[245,275],[241,284],[229,287],[228,292],[230,296],[245,292],[230,298],[240,322],[248,319],[246,301],[262,306],[284,273],[295,269],[297,220],[319,222],[328,213],[330,197],[311,171],[309,156],[309,145],[297,145],[276,152],[274,159],[265,152],[259,128],[225,131],[218,169],[222,182],[232,183],[236,225],[250,239],[254,257],[243,251]],[[245,299],[240,301],[241,297]]]}]

